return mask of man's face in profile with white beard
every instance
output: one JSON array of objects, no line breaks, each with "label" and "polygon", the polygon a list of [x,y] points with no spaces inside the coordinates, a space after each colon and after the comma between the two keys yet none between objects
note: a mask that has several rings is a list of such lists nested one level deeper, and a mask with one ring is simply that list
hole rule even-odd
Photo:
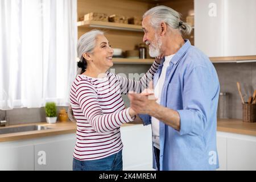
[{"label": "man's face in profile with white beard", "polygon": [[148,45],[150,56],[159,56],[162,40],[160,39],[160,32],[151,26],[150,16],[143,19],[142,28],[144,31],[143,42]]}]

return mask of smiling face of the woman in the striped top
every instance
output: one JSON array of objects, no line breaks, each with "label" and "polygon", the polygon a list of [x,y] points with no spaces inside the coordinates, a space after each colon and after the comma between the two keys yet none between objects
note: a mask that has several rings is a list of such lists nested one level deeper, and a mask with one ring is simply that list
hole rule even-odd
[{"label": "smiling face of the woman in the striped top", "polygon": [[104,35],[98,35],[96,38],[96,46],[90,58],[98,69],[108,70],[113,66],[113,49],[109,46],[109,41]]}]

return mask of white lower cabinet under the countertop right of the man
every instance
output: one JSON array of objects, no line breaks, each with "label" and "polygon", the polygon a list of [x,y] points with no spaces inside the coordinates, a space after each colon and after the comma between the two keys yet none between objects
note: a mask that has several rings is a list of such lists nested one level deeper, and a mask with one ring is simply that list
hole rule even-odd
[{"label": "white lower cabinet under the countertop right of the man", "polygon": [[217,132],[218,170],[256,170],[256,137]]}]

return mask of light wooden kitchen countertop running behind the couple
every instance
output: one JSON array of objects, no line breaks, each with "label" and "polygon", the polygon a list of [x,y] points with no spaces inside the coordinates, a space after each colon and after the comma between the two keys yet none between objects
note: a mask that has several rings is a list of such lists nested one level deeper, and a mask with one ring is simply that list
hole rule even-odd
[{"label": "light wooden kitchen countertop running behind the couple", "polygon": [[[40,122],[40,123],[29,123],[29,124],[23,124],[23,125],[13,125],[9,127],[28,126],[28,125],[47,126],[51,129],[39,130],[39,131],[26,131],[26,132],[10,133],[10,134],[0,134],[0,142],[76,133],[76,123],[73,123],[73,122],[57,122],[54,124]],[[135,124],[127,123],[127,124],[123,124],[121,127],[133,126],[133,125]],[[246,123],[246,122],[242,122],[241,119],[219,119],[217,122],[217,131],[256,136],[256,122]]]}]

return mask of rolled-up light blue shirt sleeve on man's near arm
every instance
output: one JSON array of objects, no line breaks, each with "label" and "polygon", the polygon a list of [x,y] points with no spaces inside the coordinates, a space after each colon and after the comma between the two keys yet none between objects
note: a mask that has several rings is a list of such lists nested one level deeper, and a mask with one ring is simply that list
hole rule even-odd
[{"label": "rolled-up light blue shirt sleeve on man's near arm", "polygon": [[183,109],[177,110],[180,115],[180,135],[200,135],[204,132],[211,113],[212,97],[216,92],[212,90],[214,84],[216,81],[212,80],[208,69],[203,66],[193,68],[184,76]]}]

